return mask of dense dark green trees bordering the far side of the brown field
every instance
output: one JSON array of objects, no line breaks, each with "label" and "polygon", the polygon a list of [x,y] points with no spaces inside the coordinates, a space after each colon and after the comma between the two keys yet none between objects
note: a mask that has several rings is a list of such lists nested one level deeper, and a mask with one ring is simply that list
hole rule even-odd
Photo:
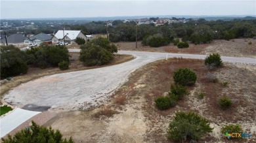
[{"label": "dense dark green trees bordering the far side of the brown field", "polygon": [[[174,38],[182,38],[183,42],[190,41],[194,44],[205,44],[213,39],[252,38],[256,36],[256,20],[234,20],[224,22],[222,20],[208,22],[204,19],[189,20],[186,23],[154,26],[142,24],[138,26],[138,40],[146,40],[148,37],[161,37],[163,42],[172,42]],[[110,40],[135,41],[136,25],[118,24],[110,29]],[[145,41],[144,41],[145,42]],[[142,42],[143,44],[143,42]]]}]

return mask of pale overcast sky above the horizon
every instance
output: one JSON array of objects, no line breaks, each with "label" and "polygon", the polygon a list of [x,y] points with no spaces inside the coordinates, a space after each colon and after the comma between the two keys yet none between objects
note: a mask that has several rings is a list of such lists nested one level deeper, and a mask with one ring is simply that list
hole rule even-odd
[{"label": "pale overcast sky above the horizon", "polygon": [[0,1],[1,19],[156,15],[256,15],[255,0]]}]

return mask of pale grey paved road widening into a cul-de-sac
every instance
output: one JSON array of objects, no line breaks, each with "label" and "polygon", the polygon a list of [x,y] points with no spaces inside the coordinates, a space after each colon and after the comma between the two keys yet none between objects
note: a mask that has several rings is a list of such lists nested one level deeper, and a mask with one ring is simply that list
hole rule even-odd
[{"label": "pale grey paved road widening into a cul-de-sac", "polygon": [[[70,50],[78,52],[79,50]],[[54,74],[33,80],[12,89],[5,95],[5,101],[20,108],[39,106],[50,110],[77,110],[101,104],[108,96],[127,80],[129,74],[142,65],[158,59],[165,59],[165,53],[128,52],[136,57],[132,61],[85,71]],[[203,55],[168,54],[168,57],[204,59]],[[256,64],[256,59],[241,57],[222,57],[223,61]],[[37,110],[39,111],[39,110]]]}]

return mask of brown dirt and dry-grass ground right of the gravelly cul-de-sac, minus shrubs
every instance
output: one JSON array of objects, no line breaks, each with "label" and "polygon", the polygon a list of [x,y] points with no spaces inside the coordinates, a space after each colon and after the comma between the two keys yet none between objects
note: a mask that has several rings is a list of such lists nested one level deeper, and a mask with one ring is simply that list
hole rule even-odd
[{"label": "brown dirt and dry-grass ground right of the gravelly cul-de-sac, minus shrubs", "polygon": [[[173,71],[189,67],[198,75],[190,95],[168,110],[158,110],[156,97],[165,95],[173,84]],[[218,79],[211,82],[209,74]],[[199,59],[175,58],[156,61],[133,72],[129,81],[112,95],[109,103],[74,112],[58,112],[46,125],[60,129],[64,137],[75,142],[172,142],[167,140],[169,121],[178,111],[194,111],[209,119],[213,133],[199,142],[230,142],[220,133],[223,125],[240,123],[251,138],[232,142],[256,142],[256,66],[225,63],[221,69],[209,71]],[[227,81],[224,87],[221,83]],[[198,99],[198,93],[206,95]],[[226,95],[233,101],[222,110],[217,99]]]}]

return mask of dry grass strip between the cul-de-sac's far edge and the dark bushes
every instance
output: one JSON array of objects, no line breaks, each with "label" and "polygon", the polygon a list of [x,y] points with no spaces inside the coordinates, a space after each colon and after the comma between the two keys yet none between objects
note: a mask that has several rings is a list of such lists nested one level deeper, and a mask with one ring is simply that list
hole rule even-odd
[{"label": "dry grass strip between the cul-de-sac's far edge and the dark bushes", "polygon": [[87,70],[87,69],[95,69],[95,68],[106,67],[106,66],[110,66],[110,65],[116,65],[119,63],[130,61],[131,59],[134,58],[131,55],[115,54],[115,59],[113,59],[107,65],[86,67],[83,65],[83,63],[81,63],[78,60],[79,53],[70,53],[70,56],[72,56],[72,59],[74,59],[74,61],[70,62],[70,69],[68,69],[66,71],[61,71],[57,67],[56,68],[50,67],[47,69],[39,69],[39,68],[35,68],[35,67],[30,67],[27,74],[23,74],[20,76],[14,76],[13,77],[14,80],[1,83],[1,86],[0,86],[1,87],[1,93],[0,93],[1,99],[3,99],[3,95],[5,93],[7,93],[11,88],[19,86],[20,84],[29,82],[30,80],[35,80],[37,78],[40,78],[43,76],[49,76],[52,74],[59,74],[59,73],[72,72],[72,71],[82,71],[82,70]]}]

